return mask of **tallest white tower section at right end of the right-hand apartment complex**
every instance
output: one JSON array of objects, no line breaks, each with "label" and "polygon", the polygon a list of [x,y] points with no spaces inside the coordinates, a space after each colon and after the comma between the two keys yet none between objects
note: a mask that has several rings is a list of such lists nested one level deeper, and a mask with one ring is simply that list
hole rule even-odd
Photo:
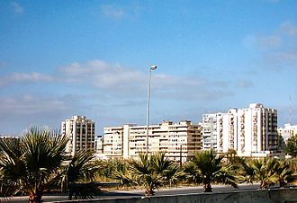
[{"label": "tallest white tower section at right end of the right-hand apartment complex", "polygon": [[238,154],[268,154],[277,149],[277,110],[252,103],[238,110]]}]

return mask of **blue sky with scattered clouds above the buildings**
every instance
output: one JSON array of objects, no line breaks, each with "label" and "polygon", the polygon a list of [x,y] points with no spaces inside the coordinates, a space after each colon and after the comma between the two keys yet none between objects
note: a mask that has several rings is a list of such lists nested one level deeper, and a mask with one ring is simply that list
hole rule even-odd
[{"label": "blue sky with scattered clouds above the buildings", "polygon": [[259,102],[297,125],[297,1],[0,1],[0,135],[202,120]]}]

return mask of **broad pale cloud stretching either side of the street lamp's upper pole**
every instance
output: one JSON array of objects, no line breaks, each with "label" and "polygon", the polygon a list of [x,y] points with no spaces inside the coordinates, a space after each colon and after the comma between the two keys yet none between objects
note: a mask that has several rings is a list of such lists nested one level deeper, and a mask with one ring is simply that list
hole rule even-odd
[{"label": "broad pale cloud stretching either side of the street lamp's upper pole", "polygon": [[[111,65],[101,60],[94,60],[63,66],[59,72],[59,80],[87,84],[103,90],[108,95],[121,96],[122,99],[130,96],[139,98],[146,93],[147,70],[138,71],[120,64]],[[212,94],[215,98],[220,98],[224,93],[230,94],[223,81],[210,82],[197,75],[174,76],[154,71],[151,75],[151,86],[159,97],[166,95],[176,100],[206,99]]]}]

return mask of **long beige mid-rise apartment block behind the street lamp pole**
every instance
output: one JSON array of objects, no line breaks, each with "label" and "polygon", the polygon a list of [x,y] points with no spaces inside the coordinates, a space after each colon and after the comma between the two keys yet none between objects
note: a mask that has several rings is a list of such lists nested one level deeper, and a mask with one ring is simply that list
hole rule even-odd
[{"label": "long beige mid-rise apartment block behind the street lamp pole", "polygon": [[[176,162],[185,162],[202,149],[201,126],[189,120],[163,121],[148,126],[148,153],[164,152]],[[103,128],[103,153],[107,157],[130,158],[147,152],[147,126],[127,124]]]}]

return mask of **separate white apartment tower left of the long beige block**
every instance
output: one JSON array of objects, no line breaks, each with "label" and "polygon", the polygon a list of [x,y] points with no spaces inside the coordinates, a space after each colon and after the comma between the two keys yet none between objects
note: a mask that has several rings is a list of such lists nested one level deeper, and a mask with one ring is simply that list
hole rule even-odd
[{"label": "separate white apartment tower left of the long beige block", "polygon": [[82,149],[94,150],[94,121],[85,116],[73,116],[61,122],[61,133],[67,135],[67,153],[76,154]]}]

